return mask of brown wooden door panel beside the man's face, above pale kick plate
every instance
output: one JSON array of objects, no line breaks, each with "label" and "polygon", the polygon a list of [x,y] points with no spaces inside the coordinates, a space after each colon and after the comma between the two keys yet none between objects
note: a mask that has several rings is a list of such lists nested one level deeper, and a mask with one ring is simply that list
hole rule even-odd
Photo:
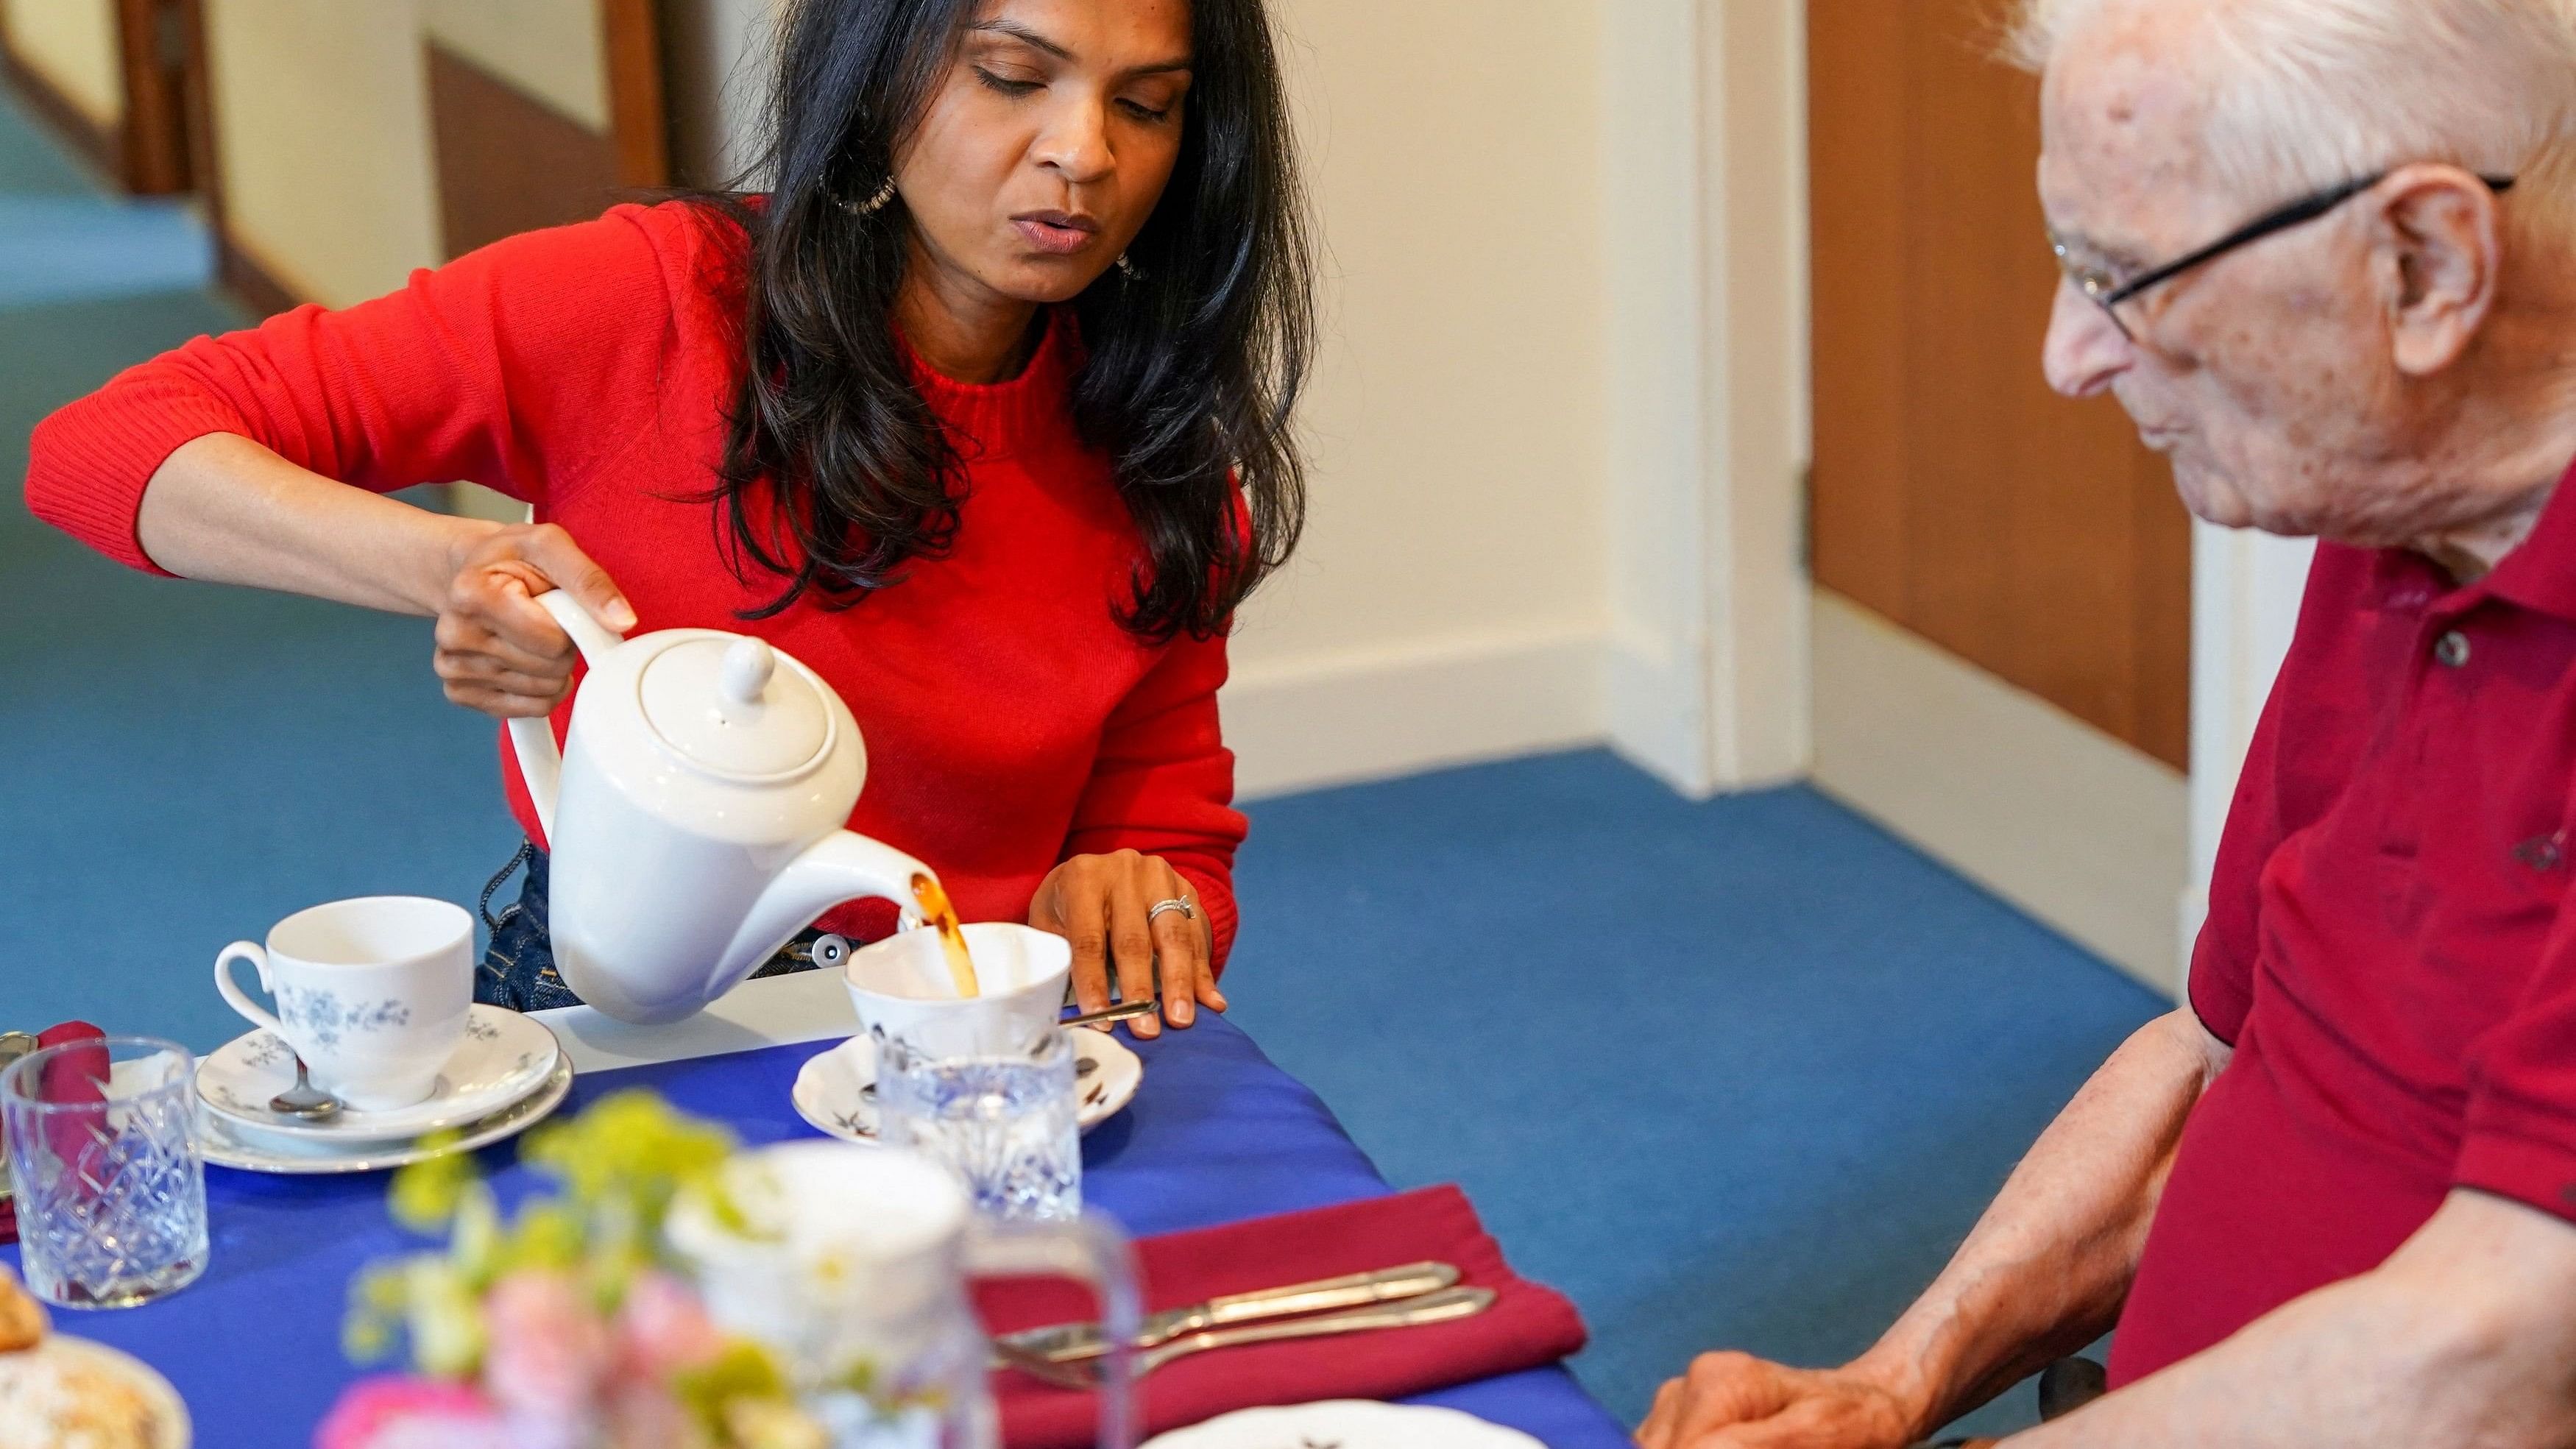
[{"label": "brown wooden door panel beside the man's face, above pale kick plate", "polygon": [[2187,767],[2190,520],[2040,378],[2038,82],[1991,0],[1811,0],[1816,582]]}]

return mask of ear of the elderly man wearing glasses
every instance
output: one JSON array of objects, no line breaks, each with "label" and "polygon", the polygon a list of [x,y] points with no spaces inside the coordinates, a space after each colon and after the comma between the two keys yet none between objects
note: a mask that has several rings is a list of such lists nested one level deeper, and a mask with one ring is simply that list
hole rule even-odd
[{"label": "ear of the elderly man wearing glasses", "polygon": [[2460,360],[2504,275],[2499,198],[2447,165],[2398,167],[2378,188],[2378,273],[2388,278],[2388,337],[2406,376]]}]

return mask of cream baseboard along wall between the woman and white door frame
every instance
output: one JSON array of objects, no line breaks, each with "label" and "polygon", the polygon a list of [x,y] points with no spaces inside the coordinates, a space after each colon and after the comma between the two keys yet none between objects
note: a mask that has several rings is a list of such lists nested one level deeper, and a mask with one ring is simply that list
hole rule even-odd
[{"label": "cream baseboard along wall between the woman and white door frame", "polygon": [[1242,798],[1602,741],[1589,631],[1239,667],[1221,695]]}]

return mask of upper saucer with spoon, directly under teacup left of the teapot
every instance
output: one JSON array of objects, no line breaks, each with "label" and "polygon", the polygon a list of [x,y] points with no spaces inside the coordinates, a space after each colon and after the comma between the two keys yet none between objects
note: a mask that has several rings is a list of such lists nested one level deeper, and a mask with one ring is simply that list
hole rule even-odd
[{"label": "upper saucer with spoon, directly under teacup left of the teapot", "polygon": [[337,1112],[322,1122],[268,1109],[268,1099],[296,1084],[296,1055],[276,1032],[250,1032],[214,1050],[196,1068],[196,1094],[216,1117],[263,1132],[389,1143],[440,1127],[464,1127],[510,1107],[546,1084],[562,1048],[544,1022],[502,1006],[474,1006],[456,1053],[438,1068],[428,1102],[392,1112]]}]

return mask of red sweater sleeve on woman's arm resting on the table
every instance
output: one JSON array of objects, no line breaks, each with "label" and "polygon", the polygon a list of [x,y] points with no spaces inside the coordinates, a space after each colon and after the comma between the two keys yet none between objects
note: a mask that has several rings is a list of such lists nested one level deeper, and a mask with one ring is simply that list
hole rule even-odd
[{"label": "red sweater sleeve on woman's arm resting on the table", "polygon": [[1172,643],[1100,731],[1100,754],[1064,839],[1064,854],[1136,849],[1170,860],[1208,911],[1218,973],[1234,950],[1234,847],[1244,842],[1234,752],[1216,723],[1224,682],[1224,638]]}]

